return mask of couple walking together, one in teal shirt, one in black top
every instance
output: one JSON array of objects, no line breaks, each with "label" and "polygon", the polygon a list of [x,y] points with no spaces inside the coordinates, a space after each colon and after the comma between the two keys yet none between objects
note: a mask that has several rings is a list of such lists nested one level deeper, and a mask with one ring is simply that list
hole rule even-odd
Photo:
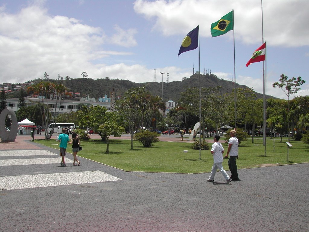
[{"label": "couple walking together, one in teal shirt, one in black top", "polygon": [[60,148],[60,156],[61,156],[61,167],[65,167],[66,163],[64,160],[64,157],[66,156],[66,148],[67,144],[72,144],[72,150],[73,150],[73,166],[75,166],[75,162],[77,162],[77,166],[80,165],[79,160],[77,159],[76,155],[79,151],[79,145],[80,145],[80,140],[77,136],[77,133],[72,134],[72,139],[69,141],[69,135],[66,134],[66,128],[62,128],[62,134],[59,135],[58,140],[60,142],[59,148]]}]

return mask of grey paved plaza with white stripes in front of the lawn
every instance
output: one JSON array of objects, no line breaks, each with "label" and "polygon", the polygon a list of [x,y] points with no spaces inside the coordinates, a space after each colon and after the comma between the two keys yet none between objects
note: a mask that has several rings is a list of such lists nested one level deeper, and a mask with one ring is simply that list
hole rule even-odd
[{"label": "grey paved plaza with white stripes in front of the lawn", "polygon": [[1,232],[309,231],[309,163],[242,169],[226,185],[220,173],[206,182],[210,170],[126,172],[81,157],[73,166],[70,153],[61,167],[59,150],[30,140],[0,143]]}]

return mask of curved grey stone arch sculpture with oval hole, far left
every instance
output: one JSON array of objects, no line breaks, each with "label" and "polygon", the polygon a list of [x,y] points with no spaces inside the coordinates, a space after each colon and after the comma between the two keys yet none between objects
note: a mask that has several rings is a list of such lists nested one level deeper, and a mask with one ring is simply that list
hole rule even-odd
[{"label": "curved grey stone arch sculpture with oval hole, far left", "polygon": [[[5,123],[6,116],[10,114],[12,119],[11,130],[6,131]],[[14,110],[11,109],[3,109],[0,114],[0,138],[2,142],[15,142],[17,136],[17,118]]]}]

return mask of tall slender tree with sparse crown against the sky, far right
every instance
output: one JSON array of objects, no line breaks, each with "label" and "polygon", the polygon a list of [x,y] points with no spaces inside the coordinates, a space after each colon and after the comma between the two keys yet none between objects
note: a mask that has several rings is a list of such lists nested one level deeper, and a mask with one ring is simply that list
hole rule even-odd
[{"label": "tall slender tree with sparse crown against the sky, far right", "polygon": [[[291,79],[288,79],[288,77],[286,75],[281,74],[279,81],[280,81],[280,83],[279,82],[273,83],[273,88],[276,88],[276,87],[281,88],[282,91],[284,92],[284,94],[287,96],[287,100],[288,100],[287,117],[289,118],[287,125],[288,125],[288,134],[289,134],[289,142],[290,142],[290,131],[291,131],[290,118],[291,118],[291,115],[290,115],[289,98],[292,94],[296,94],[300,90],[299,86],[304,84],[305,80],[302,80],[302,78],[300,76],[297,77],[297,78],[292,77]],[[293,128],[293,131],[294,131],[294,128]]]}]

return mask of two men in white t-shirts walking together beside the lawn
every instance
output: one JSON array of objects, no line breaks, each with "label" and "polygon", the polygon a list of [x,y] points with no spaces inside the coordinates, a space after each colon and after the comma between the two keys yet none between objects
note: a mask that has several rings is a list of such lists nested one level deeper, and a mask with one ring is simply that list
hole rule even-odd
[{"label": "two men in white t-shirts walking together beside the lawn", "polygon": [[219,143],[220,136],[215,135],[214,136],[214,144],[211,147],[211,154],[214,157],[214,164],[211,168],[208,182],[214,182],[214,176],[216,174],[216,171],[219,169],[219,171],[222,173],[223,177],[226,179],[226,184],[229,184],[232,180],[238,181],[238,172],[237,172],[237,165],[236,165],[236,158],[238,158],[238,144],[239,141],[236,138],[236,131],[231,130],[230,131],[231,138],[228,142],[228,148],[227,153],[224,156],[224,158],[228,158],[228,155],[230,155],[229,160],[227,161],[227,164],[229,165],[229,169],[231,171],[231,176],[229,176],[226,171],[223,169],[222,162],[223,162],[223,156],[224,148],[221,143]]}]

